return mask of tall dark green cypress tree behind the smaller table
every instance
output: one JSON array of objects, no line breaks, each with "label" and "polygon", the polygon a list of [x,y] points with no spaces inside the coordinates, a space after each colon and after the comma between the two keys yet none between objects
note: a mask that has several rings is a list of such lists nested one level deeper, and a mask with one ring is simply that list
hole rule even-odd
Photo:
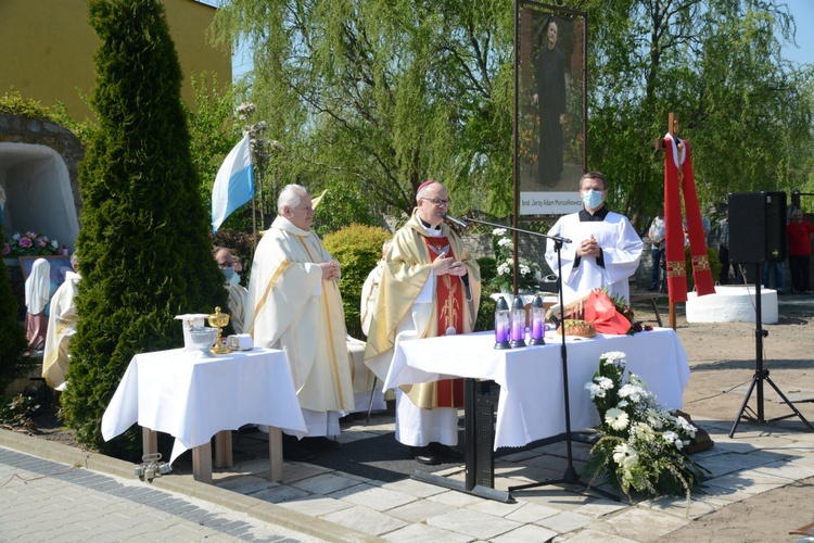
[{"label": "tall dark green cypress tree behind the smaller table", "polygon": [[90,102],[99,129],[79,173],[82,279],[63,405],[82,444],[127,457],[138,432],[105,443],[100,421],[130,359],[181,346],[175,315],[228,303],[164,9],[157,0],[91,0],[89,12],[102,41]]}]

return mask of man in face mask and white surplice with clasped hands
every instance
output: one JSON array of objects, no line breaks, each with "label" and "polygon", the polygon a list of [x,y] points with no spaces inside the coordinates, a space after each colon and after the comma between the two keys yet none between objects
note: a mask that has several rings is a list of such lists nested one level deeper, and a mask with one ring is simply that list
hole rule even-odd
[{"label": "man in face mask and white surplice with clasped hands", "polygon": [[[629,303],[628,279],[636,273],[644,247],[627,217],[608,211],[605,199],[608,181],[599,172],[580,179],[583,209],[564,215],[549,230],[571,243],[562,245],[562,288],[565,301],[590,289],[606,288],[610,294]],[[555,274],[557,252],[548,240],[546,262]]]}]

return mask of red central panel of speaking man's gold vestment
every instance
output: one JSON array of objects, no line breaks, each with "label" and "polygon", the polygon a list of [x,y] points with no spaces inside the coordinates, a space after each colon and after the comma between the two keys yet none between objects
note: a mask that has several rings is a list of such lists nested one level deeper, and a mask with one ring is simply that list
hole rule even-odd
[{"label": "red central panel of speaking man's gold vestment", "polygon": [[[455,257],[446,237],[427,236],[424,240],[431,262],[442,253]],[[435,337],[463,332],[463,286],[459,277],[449,274],[435,277]],[[435,384],[438,407],[463,406],[463,379],[445,379]]]}]

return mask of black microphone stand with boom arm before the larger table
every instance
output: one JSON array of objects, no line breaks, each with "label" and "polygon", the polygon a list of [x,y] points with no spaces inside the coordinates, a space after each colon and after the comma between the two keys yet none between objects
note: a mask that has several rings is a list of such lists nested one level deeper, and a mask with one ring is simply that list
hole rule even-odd
[{"label": "black microphone stand with boom arm before the larger table", "polygon": [[[498,225],[494,223],[488,223],[486,220],[480,220],[475,218],[453,218],[448,216],[447,214],[444,214],[444,218],[450,220],[456,226],[461,227],[461,224],[463,225],[463,228],[468,227],[469,225],[467,223],[478,223],[482,225],[488,225],[496,228],[506,228],[507,230],[512,230],[520,233],[527,233],[530,236],[536,236],[539,238],[546,238],[554,241],[554,249],[557,251],[557,286],[559,291],[559,301],[560,301],[560,325],[562,326],[562,342],[560,344],[560,362],[562,364],[562,392],[563,392],[563,401],[564,401],[564,408],[565,408],[565,452],[568,456],[568,467],[565,468],[565,472],[563,473],[562,478],[560,479],[552,479],[550,481],[540,481],[540,482],[532,482],[527,484],[520,484],[517,487],[509,487],[509,492],[516,491],[516,490],[525,490],[525,489],[532,489],[532,488],[538,488],[538,487],[546,487],[549,484],[576,484],[580,487],[583,487],[584,489],[588,489],[589,485],[583,481],[580,480],[580,476],[576,472],[576,469],[574,468],[574,457],[572,452],[572,435],[571,435],[571,401],[569,399],[569,382],[568,382],[568,346],[565,344],[565,304],[563,300],[562,294],[562,245],[563,243],[571,243],[570,239],[563,238],[561,236],[549,236],[547,233],[542,232],[534,232],[531,230],[523,230],[521,228],[514,228],[511,226],[506,225]],[[620,497],[611,494],[609,492],[603,491],[599,488],[594,488],[594,491],[598,492],[599,494],[605,495],[606,497],[609,497],[611,500],[615,500],[616,502],[620,501]]]}]

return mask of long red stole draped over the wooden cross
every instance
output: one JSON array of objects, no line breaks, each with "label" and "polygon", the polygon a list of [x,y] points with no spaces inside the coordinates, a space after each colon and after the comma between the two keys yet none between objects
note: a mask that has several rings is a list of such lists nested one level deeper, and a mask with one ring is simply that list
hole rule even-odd
[{"label": "long red stole draped over the wooden cross", "polygon": [[681,140],[683,150],[676,148],[673,138],[664,137],[664,254],[667,261],[667,288],[671,302],[687,301],[687,265],[684,253],[684,228],[682,226],[682,195],[687,214],[689,254],[692,275],[699,296],[715,293],[715,283],[707,254],[707,239],[701,224],[701,209],[696,193],[689,142]]}]

